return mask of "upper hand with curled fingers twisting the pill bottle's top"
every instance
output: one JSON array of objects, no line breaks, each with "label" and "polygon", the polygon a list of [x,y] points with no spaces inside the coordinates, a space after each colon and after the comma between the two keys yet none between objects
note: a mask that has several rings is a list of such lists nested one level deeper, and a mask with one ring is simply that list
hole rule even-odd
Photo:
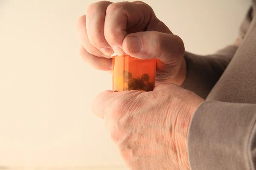
[{"label": "upper hand with curled fingers twisting the pill bottle's top", "polygon": [[157,58],[156,85],[181,85],[186,79],[183,41],[143,2],[93,3],[79,18],[78,32],[80,54],[96,69],[111,71],[114,51],[140,59]]}]

